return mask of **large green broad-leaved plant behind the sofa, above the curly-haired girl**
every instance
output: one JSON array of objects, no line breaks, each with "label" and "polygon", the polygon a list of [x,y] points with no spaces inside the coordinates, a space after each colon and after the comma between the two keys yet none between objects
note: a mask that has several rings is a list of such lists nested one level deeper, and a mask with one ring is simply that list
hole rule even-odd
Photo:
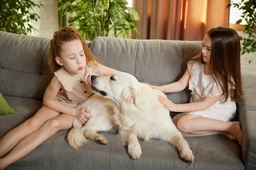
[{"label": "large green broad-leaved plant behind the sofa, above the curly-haired girl", "polygon": [[[97,36],[129,38],[139,13],[126,0],[58,0],[60,27],[73,26],[86,39]],[[68,22],[67,22],[68,20]]]}]

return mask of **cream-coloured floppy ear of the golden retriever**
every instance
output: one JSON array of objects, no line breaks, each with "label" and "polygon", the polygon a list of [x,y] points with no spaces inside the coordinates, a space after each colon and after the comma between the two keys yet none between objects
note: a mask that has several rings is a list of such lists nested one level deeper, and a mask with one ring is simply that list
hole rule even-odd
[{"label": "cream-coloured floppy ear of the golden retriever", "polygon": [[125,101],[133,103],[137,108],[139,108],[139,110],[144,108],[145,101],[138,89],[127,87],[122,91],[122,96]]}]

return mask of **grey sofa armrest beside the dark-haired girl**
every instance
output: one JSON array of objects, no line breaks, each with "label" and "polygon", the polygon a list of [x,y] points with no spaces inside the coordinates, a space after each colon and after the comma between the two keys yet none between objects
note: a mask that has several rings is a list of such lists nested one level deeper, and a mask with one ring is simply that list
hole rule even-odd
[{"label": "grey sofa armrest beside the dark-haired girl", "polygon": [[256,89],[255,75],[243,75],[244,98],[238,105],[242,126],[242,159],[245,169],[256,169]]}]

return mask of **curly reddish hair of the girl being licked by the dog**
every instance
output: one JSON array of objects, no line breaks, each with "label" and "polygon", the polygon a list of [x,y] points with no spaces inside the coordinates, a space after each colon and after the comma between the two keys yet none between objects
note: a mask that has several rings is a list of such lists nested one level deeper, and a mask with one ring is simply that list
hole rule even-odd
[{"label": "curly reddish hair of the girl being licked by the dog", "polygon": [[90,48],[86,45],[85,40],[75,29],[67,26],[65,28],[61,28],[60,31],[55,31],[53,35],[53,39],[50,40],[50,50],[48,57],[48,65],[52,72],[56,72],[60,69],[60,65],[55,61],[56,57],[60,57],[61,45],[65,42],[70,42],[73,40],[80,40],[82,43],[82,48],[85,52],[86,65],[92,66],[93,64],[97,64],[100,61],[92,54]]}]

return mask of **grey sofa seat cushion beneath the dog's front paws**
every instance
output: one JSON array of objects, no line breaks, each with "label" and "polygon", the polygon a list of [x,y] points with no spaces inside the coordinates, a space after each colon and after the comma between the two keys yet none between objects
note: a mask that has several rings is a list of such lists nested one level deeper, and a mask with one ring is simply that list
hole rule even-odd
[{"label": "grey sofa seat cushion beneath the dog's front paws", "polygon": [[196,157],[193,164],[187,164],[166,141],[139,140],[142,157],[131,159],[127,146],[122,144],[116,134],[100,132],[109,140],[107,145],[88,140],[77,151],[68,145],[67,132],[58,132],[51,146],[52,169],[244,169],[238,142],[222,135],[186,137]]}]

